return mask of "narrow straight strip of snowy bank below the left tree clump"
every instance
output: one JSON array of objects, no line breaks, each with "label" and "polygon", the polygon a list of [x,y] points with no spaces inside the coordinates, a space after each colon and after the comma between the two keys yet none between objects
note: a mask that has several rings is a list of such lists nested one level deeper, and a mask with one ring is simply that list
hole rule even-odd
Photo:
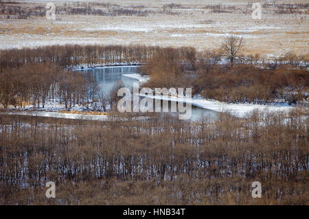
[{"label": "narrow straight strip of snowy bank below the left tree clump", "polygon": [[41,116],[41,117],[52,117],[61,119],[85,119],[85,120],[98,120],[98,121],[108,121],[108,115],[82,115],[75,113],[58,113],[58,112],[45,112],[45,111],[14,111],[14,112],[0,112],[2,115],[30,115],[30,116]]}]

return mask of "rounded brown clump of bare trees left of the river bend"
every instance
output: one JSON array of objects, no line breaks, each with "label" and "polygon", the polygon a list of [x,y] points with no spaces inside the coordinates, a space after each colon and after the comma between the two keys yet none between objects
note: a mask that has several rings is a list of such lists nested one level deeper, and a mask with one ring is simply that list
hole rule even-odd
[{"label": "rounded brown clump of bare trees left of the river bend", "polygon": [[58,100],[67,110],[77,104],[87,108],[96,87],[93,78],[78,71],[65,71],[50,62],[28,63],[0,72],[0,106],[44,108],[47,100]]}]

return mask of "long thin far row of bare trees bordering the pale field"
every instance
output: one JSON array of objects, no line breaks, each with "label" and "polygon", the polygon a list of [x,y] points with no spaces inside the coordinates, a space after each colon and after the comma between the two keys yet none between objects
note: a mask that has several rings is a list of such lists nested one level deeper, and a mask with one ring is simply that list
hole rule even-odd
[{"label": "long thin far row of bare trees bordering the pale field", "polygon": [[29,62],[53,62],[67,68],[115,62],[141,63],[157,49],[143,45],[53,45],[35,49],[3,49],[0,50],[0,71]]}]

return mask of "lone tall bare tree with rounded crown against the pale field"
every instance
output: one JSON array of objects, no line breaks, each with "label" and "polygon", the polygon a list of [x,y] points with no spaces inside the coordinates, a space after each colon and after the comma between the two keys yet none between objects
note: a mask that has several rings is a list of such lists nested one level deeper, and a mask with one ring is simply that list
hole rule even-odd
[{"label": "lone tall bare tree with rounded crown against the pale field", "polygon": [[242,51],[243,41],[238,36],[229,36],[224,43],[222,43],[222,54],[227,56],[231,67],[233,67],[234,60]]}]

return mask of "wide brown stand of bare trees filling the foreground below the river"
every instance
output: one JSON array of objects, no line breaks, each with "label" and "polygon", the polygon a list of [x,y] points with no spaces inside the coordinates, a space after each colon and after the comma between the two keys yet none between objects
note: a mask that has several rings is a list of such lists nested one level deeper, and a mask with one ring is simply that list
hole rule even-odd
[{"label": "wide brown stand of bare trees filling the foreground below the river", "polygon": [[[304,113],[222,114],[195,126],[1,115],[0,203],[308,205]],[[262,198],[252,198],[253,181]]]}]

